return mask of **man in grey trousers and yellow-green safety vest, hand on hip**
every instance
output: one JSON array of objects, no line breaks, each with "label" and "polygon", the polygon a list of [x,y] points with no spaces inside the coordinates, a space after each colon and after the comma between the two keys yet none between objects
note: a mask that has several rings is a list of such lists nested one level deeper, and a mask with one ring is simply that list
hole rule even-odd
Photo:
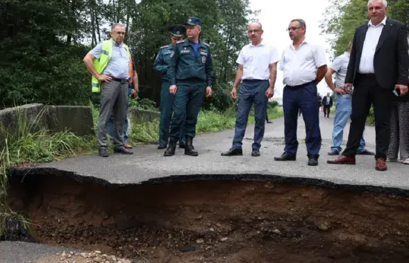
[{"label": "man in grey trousers and yellow-green safety vest, hand on hip", "polygon": [[96,86],[101,87],[97,136],[99,156],[102,157],[108,157],[107,123],[111,113],[115,118],[114,152],[133,154],[124,147],[129,65],[132,64],[128,46],[124,44],[125,26],[114,24],[110,35],[111,39],[97,44],[84,57],[85,66],[93,75],[93,91]]}]

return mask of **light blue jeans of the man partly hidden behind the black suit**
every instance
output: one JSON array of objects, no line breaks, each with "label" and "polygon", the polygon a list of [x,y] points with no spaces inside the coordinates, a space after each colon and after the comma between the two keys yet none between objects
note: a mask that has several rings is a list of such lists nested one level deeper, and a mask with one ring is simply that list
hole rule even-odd
[{"label": "light blue jeans of the man partly hidden behind the black suit", "polygon": [[[331,149],[335,149],[338,153],[342,151],[341,143],[344,135],[344,128],[347,125],[349,118],[351,118],[352,112],[352,96],[351,94],[340,95],[335,93],[335,118],[333,129],[333,146]],[[365,152],[365,140],[362,134],[360,144],[357,153]]]}]

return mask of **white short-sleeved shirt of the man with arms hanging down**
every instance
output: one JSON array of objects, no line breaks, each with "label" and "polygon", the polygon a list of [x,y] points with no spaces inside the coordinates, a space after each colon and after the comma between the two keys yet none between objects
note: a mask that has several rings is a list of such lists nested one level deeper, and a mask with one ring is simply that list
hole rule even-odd
[{"label": "white short-sleeved shirt of the man with arms hanging down", "polygon": [[262,41],[257,46],[251,43],[244,46],[236,62],[243,65],[242,80],[269,80],[269,65],[278,60],[276,48]]}]

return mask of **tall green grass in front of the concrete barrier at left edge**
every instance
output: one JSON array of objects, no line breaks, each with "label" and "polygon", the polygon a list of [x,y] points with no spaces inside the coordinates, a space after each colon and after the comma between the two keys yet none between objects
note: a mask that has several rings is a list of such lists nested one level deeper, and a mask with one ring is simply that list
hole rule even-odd
[{"label": "tall green grass in front of the concrete barrier at left edge", "polygon": [[[40,113],[36,120],[41,118]],[[5,140],[0,142],[0,237],[5,230],[8,217],[15,217],[29,230],[29,222],[21,215],[13,212],[7,203],[8,170],[13,165],[56,161],[78,154],[92,152],[96,145],[94,137],[80,137],[72,132],[64,131],[50,133],[46,130],[33,131],[33,125],[28,124],[26,114],[17,112],[17,130],[14,134],[0,127]]]}]

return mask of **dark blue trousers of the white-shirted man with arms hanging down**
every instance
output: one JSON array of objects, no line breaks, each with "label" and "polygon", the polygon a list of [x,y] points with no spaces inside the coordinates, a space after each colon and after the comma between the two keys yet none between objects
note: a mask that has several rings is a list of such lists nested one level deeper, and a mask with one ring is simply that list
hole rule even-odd
[{"label": "dark blue trousers of the white-shirted man with arms hanging down", "polygon": [[265,91],[267,91],[268,87],[268,80],[243,80],[242,84],[240,84],[233,149],[240,149],[242,147],[242,140],[246,132],[247,120],[249,120],[249,113],[253,102],[256,125],[254,126],[254,143],[252,147],[253,149],[260,149],[265,131],[265,116],[267,114],[268,102]]}]

